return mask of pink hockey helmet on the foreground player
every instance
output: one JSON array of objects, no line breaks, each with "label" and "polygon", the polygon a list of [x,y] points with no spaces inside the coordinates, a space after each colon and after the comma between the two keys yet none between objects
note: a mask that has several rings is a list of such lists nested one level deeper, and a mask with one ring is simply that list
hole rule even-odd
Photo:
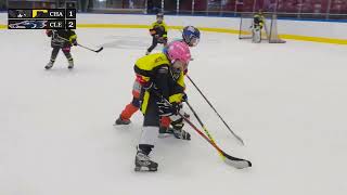
[{"label": "pink hockey helmet on the foreground player", "polygon": [[172,64],[176,61],[181,61],[182,63],[188,65],[191,61],[191,51],[189,49],[189,46],[181,41],[174,41],[169,43],[167,55]]}]

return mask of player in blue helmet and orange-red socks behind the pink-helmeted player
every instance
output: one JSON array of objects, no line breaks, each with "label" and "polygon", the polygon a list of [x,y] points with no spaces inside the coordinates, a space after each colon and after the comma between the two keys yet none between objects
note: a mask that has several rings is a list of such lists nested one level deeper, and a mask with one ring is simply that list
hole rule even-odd
[{"label": "player in blue helmet and orange-red socks behind the pink-helmeted player", "polygon": [[[176,41],[182,41],[189,44],[190,47],[195,47],[197,46],[200,41],[200,30],[193,26],[187,26],[182,30],[182,39],[178,39]],[[175,41],[174,41],[175,42]],[[164,48],[163,50],[164,53],[167,53],[167,47]],[[185,69],[184,73],[187,73],[188,69]],[[124,108],[119,117],[116,119],[115,125],[129,125],[131,116],[137,113],[140,108],[140,91],[141,91],[141,83],[140,83],[140,78],[137,77],[137,79],[133,82],[132,87],[132,101]],[[184,115],[185,117],[189,117],[189,115]],[[165,134],[174,134],[177,139],[189,139],[188,134],[183,134],[183,136],[180,136],[179,134],[175,134],[175,129],[169,128],[170,126],[170,120],[167,117],[162,117],[160,120],[160,133],[163,136]]]}]

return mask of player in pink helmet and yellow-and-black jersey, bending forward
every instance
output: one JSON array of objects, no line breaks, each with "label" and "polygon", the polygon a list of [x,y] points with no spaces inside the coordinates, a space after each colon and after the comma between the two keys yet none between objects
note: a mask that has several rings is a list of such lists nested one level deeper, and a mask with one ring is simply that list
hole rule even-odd
[{"label": "player in pink helmet and yellow-and-black jersey, bending forward", "polygon": [[158,136],[160,117],[170,117],[171,125],[176,126],[176,129],[183,127],[182,118],[178,113],[184,98],[183,72],[190,60],[188,44],[176,41],[168,47],[167,54],[155,53],[136,62],[134,72],[141,78],[143,90],[141,112],[144,115],[134,160],[136,171],[157,170],[158,164],[152,161],[149,155]]}]

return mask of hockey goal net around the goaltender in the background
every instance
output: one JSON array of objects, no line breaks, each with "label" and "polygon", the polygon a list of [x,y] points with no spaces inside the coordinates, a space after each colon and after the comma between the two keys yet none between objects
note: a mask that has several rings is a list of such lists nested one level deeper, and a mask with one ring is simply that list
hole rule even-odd
[{"label": "hockey goal net around the goaltender in the background", "polygon": [[[242,14],[239,29],[239,39],[252,39],[253,13]],[[274,13],[264,14],[265,23],[261,29],[261,40],[268,40],[269,43],[285,43],[278,34],[278,16]]]}]

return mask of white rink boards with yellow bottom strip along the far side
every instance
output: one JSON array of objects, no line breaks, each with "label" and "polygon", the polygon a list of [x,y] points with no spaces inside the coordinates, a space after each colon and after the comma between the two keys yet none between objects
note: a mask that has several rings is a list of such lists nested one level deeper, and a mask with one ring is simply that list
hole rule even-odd
[{"label": "white rink boards with yellow bottom strip along the far side", "polygon": [[[7,14],[0,13],[0,28],[7,28]],[[78,28],[147,28],[154,15],[78,14]],[[205,31],[239,34],[239,17],[165,16],[169,28],[194,25]],[[281,38],[324,43],[347,44],[347,23],[279,20]]]}]

